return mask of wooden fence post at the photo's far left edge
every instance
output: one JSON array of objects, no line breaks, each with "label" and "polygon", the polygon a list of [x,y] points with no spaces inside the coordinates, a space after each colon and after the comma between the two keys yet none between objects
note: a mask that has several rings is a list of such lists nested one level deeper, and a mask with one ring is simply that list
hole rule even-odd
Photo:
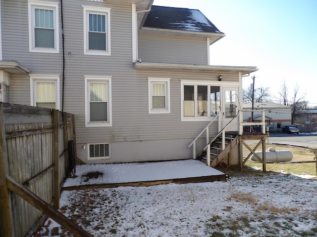
[{"label": "wooden fence post at the photo's far left edge", "polygon": [[2,103],[0,103],[0,237],[12,237],[13,222],[10,210],[10,193],[6,183],[6,177],[9,175],[9,171],[2,106]]}]

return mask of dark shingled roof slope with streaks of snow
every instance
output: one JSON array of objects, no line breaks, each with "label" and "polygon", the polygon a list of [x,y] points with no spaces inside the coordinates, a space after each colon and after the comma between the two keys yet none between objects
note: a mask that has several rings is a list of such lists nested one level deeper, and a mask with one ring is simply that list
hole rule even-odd
[{"label": "dark shingled roof slope with streaks of snow", "polygon": [[166,6],[152,6],[145,20],[144,27],[222,33],[200,10]]}]

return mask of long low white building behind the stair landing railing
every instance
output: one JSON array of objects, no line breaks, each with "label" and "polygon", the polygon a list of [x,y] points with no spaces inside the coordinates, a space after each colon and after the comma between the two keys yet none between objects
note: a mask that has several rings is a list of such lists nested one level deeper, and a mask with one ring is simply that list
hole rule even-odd
[{"label": "long low white building behind the stair landing railing", "polygon": [[[259,110],[259,112],[253,113],[254,120],[257,120],[261,114],[260,110],[265,111],[265,122],[269,126],[271,132],[282,132],[282,127],[284,125],[289,125],[292,123],[292,107],[281,105],[277,103],[254,103],[254,110]],[[252,103],[243,103],[244,110],[251,110]],[[250,114],[244,113],[243,120],[251,119]]]}]

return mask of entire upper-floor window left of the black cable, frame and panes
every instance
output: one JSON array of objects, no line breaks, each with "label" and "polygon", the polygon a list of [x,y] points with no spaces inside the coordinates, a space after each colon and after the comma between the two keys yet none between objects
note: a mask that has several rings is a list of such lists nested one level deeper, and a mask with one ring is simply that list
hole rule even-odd
[{"label": "entire upper-floor window left of the black cable, frame and panes", "polygon": [[59,53],[58,3],[28,0],[29,51]]}]

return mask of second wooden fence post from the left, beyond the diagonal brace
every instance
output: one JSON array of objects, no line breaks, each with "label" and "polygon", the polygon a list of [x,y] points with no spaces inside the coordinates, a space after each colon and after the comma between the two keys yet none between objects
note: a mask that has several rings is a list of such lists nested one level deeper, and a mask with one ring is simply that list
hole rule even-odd
[{"label": "second wooden fence post from the left, beyond the diagonal brace", "polygon": [[53,135],[54,135],[54,207],[59,208],[59,111],[53,110]]}]

